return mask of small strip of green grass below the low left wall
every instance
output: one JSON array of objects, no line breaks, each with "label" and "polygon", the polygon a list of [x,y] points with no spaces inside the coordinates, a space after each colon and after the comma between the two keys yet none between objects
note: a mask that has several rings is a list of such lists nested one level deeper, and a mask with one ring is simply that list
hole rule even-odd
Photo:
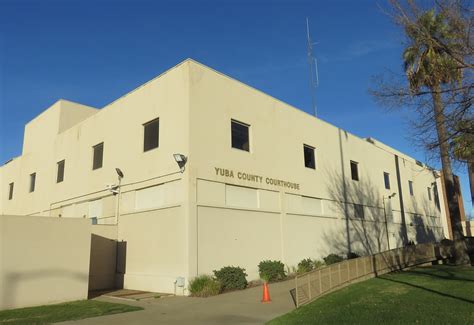
[{"label": "small strip of green grass below the low left wall", "polygon": [[0,311],[0,324],[50,324],[142,309],[96,300],[80,300],[57,305]]}]

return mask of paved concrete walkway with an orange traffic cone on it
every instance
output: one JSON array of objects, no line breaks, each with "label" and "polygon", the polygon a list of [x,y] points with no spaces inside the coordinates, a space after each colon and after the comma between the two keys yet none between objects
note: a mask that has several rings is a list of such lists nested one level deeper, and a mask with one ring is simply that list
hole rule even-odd
[{"label": "paved concrete walkway with an orange traffic cone on it", "polygon": [[209,298],[163,297],[129,302],[99,297],[96,299],[145,309],[61,324],[263,324],[295,309],[289,293],[294,283],[288,280],[270,284],[272,302],[268,304],[260,302],[262,286]]}]

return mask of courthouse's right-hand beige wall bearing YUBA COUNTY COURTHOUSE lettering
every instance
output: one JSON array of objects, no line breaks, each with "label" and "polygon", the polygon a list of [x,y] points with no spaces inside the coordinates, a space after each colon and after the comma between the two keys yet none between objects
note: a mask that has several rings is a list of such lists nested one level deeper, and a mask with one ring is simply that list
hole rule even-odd
[{"label": "courthouse's right-hand beige wall bearing YUBA COUNTY COURTHOUSE lettering", "polygon": [[[231,147],[232,119],[250,125],[250,152]],[[200,64],[190,65],[190,121],[195,274],[239,265],[255,278],[264,259],[295,266],[307,257],[345,254],[348,233],[351,250],[359,254],[401,246],[400,197],[408,240],[442,238],[444,207],[427,193],[438,182],[436,173],[376,140],[356,137]],[[316,148],[315,170],[304,166],[304,144]],[[351,179],[351,160],[358,162],[359,181]],[[392,193],[397,195],[388,199]],[[355,217],[355,204],[362,205],[364,220]]]}]

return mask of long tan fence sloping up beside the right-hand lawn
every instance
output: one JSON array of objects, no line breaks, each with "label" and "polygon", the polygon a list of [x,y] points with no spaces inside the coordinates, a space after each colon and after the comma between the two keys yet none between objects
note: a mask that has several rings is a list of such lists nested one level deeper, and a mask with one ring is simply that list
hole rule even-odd
[{"label": "long tan fence sloping up beside the right-hand lawn", "polygon": [[348,284],[438,260],[441,258],[439,251],[439,246],[433,243],[410,245],[298,275],[295,278],[296,308]]}]

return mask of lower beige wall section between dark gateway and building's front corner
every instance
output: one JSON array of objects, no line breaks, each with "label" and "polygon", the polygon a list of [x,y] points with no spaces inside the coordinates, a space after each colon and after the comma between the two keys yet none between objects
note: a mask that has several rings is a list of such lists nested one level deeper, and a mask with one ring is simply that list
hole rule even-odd
[{"label": "lower beige wall section between dark gateway and building's front corner", "polygon": [[173,293],[176,277],[187,277],[182,210],[177,205],[121,217],[119,238],[126,247],[124,288]]}]

